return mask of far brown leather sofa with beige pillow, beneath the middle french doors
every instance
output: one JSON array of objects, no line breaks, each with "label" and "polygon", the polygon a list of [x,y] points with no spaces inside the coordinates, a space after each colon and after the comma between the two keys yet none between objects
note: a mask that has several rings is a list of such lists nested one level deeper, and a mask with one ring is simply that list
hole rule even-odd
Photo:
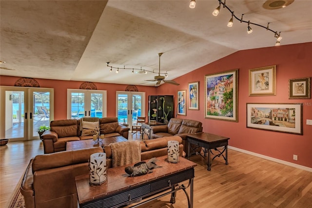
[{"label": "far brown leather sofa with beige pillow, beneath the middle french doors", "polygon": [[[81,136],[80,120],[77,119],[51,121],[50,127],[41,136],[44,154],[65,151],[66,143],[70,141],[93,138],[93,135]],[[105,137],[123,136],[126,139],[130,130],[127,126],[119,125],[116,117],[100,118],[99,129]]]}]

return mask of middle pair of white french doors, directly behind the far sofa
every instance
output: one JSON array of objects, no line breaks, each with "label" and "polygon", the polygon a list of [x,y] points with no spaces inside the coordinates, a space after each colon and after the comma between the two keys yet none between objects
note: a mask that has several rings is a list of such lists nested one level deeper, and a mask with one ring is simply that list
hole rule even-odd
[{"label": "middle pair of white french doors, directly behind the far sofa", "polygon": [[106,90],[67,89],[68,119],[106,115]]}]

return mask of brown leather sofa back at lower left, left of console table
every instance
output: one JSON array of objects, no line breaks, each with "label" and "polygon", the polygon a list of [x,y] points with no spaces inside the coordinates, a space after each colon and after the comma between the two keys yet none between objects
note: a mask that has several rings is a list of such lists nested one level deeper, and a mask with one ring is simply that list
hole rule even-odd
[{"label": "brown leather sofa back at lower left, left of console table", "polygon": [[37,155],[31,159],[20,192],[26,208],[77,208],[75,177],[88,174],[90,155],[102,147]]}]

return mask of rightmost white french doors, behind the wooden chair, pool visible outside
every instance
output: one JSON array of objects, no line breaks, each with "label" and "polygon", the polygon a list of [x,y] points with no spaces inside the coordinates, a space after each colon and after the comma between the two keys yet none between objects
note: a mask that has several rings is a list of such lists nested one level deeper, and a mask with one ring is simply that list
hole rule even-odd
[{"label": "rightmost white french doors, behind the wooden chair, pool visible outside", "polygon": [[116,99],[119,124],[127,124],[131,128],[138,116],[145,116],[145,92],[117,91]]}]

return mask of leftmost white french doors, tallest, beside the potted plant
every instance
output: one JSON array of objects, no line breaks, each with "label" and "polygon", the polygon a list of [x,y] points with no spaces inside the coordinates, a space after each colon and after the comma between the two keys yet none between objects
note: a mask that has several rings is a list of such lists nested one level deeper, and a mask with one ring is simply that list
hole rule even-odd
[{"label": "leftmost white french doors, tallest, beside the potted plant", "polygon": [[1,139],[39,139],[39,126],[54,119],[52,88],[1,86],[0,97]]}]

